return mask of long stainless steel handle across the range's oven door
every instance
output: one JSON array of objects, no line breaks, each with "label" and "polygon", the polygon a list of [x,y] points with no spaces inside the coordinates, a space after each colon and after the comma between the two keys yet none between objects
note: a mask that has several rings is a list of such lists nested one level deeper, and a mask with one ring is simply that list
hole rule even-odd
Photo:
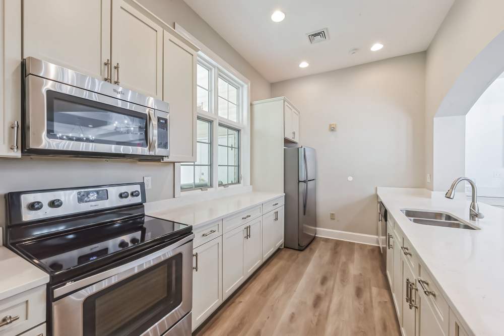
[{"label": "long stainless steel handle across the range's oven door", "polygon": [[[187,236],[183,239],[180,239],[179,241],[177,241],[169,246],[166,246],[165,248],[160,249],[159,251],[148,254],[148,255],[146,255],[142,258],[139,258],[137,260],[134,260],[134,261],[125,263],[123,265],[111,268],[110,270],[95,274],[93,276],[84,278],[82,280],[78,280],[75,282],[69,282],[64,286],[61,286],[59,288],[54,289],[54,294],[53,294],[54,300],[59,298],[60,296],[64,296],[65,294],[68,294],[70,292],[86,288],[92,284],[95,284],[95,283],[100,282],[102,280],[105,280],[107,278],[113,277],[119,273],[128,271],[131,268],[142,265],[143,263],[146,263],[149,261],[152,262],[153,259],[155,259],[155,258],[157,258],[167,252],[170,252],[170,251],[184,245],[185,243],[190,242],[193,239],[194,239],[194,234],[191,234],[190,236]],[[192,248],[191,248],[191,250],[192,250]],[[159,262],[161,262],[161,261],[163,261],[163,260],[160,259]],[[154,264],[151,264],[150,266],[153,266],[153,265]]]}]

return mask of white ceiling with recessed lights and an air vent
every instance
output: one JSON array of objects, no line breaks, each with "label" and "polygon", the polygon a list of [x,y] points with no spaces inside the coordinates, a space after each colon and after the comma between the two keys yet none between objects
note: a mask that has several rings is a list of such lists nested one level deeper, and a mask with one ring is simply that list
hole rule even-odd
[{"label": "white ceiling with recessed lights and an air vent", "polygon": [[[426,50],[454,0],[184,0],[268,81]],[[275,10],[285,13],[271,21]],[[306,33],[328,28],[330,40]],[[371,52],[375,42],[385,47]],[[358,48],[355,55],[350,49]],[[218,53],[218,50],[214,50]],[[308,68],[298,64],[306,60]]]}]

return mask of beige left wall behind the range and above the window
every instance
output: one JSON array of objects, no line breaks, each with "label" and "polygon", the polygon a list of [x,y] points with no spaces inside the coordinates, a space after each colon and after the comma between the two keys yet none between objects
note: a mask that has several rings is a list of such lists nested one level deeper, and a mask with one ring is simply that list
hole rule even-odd
[{"label": "beige left wall behind the range and above the window", "polygon": [[[142,5],[172,25],[180,23],[251,82],[253,100],[270,98],[268,83],[219,34],[182,0],[142,0]],[[173,164],[126,160],[0,158],[0,195],[9,191],[126,183],[152,176],[147,200],[173,197]],[[0,199],[0,227],[5,221],[5,201]]]}]

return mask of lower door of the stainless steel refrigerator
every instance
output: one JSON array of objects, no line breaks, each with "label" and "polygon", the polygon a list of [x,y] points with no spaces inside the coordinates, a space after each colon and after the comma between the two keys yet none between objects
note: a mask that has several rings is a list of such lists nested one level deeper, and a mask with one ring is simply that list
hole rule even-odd
[{"label": "lower door of the stainless steel refrigerator", "polygon": [[316,181],[299,182],[298,243],[308,245],[317,231]]}]

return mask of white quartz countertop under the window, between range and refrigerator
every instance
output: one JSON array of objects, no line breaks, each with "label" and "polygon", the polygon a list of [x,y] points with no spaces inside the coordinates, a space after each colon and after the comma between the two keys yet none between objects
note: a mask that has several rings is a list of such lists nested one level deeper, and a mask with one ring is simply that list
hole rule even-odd
[{"label": "white quartz countertop under the window, between range and refrigerator", "polygon": [[158,201],[155,207],[149,207],[146,214],[197,227],[283,195],[283,193],[251,191],[204,200],[177,208],[168,206],[164,208],[162,201]]}]

